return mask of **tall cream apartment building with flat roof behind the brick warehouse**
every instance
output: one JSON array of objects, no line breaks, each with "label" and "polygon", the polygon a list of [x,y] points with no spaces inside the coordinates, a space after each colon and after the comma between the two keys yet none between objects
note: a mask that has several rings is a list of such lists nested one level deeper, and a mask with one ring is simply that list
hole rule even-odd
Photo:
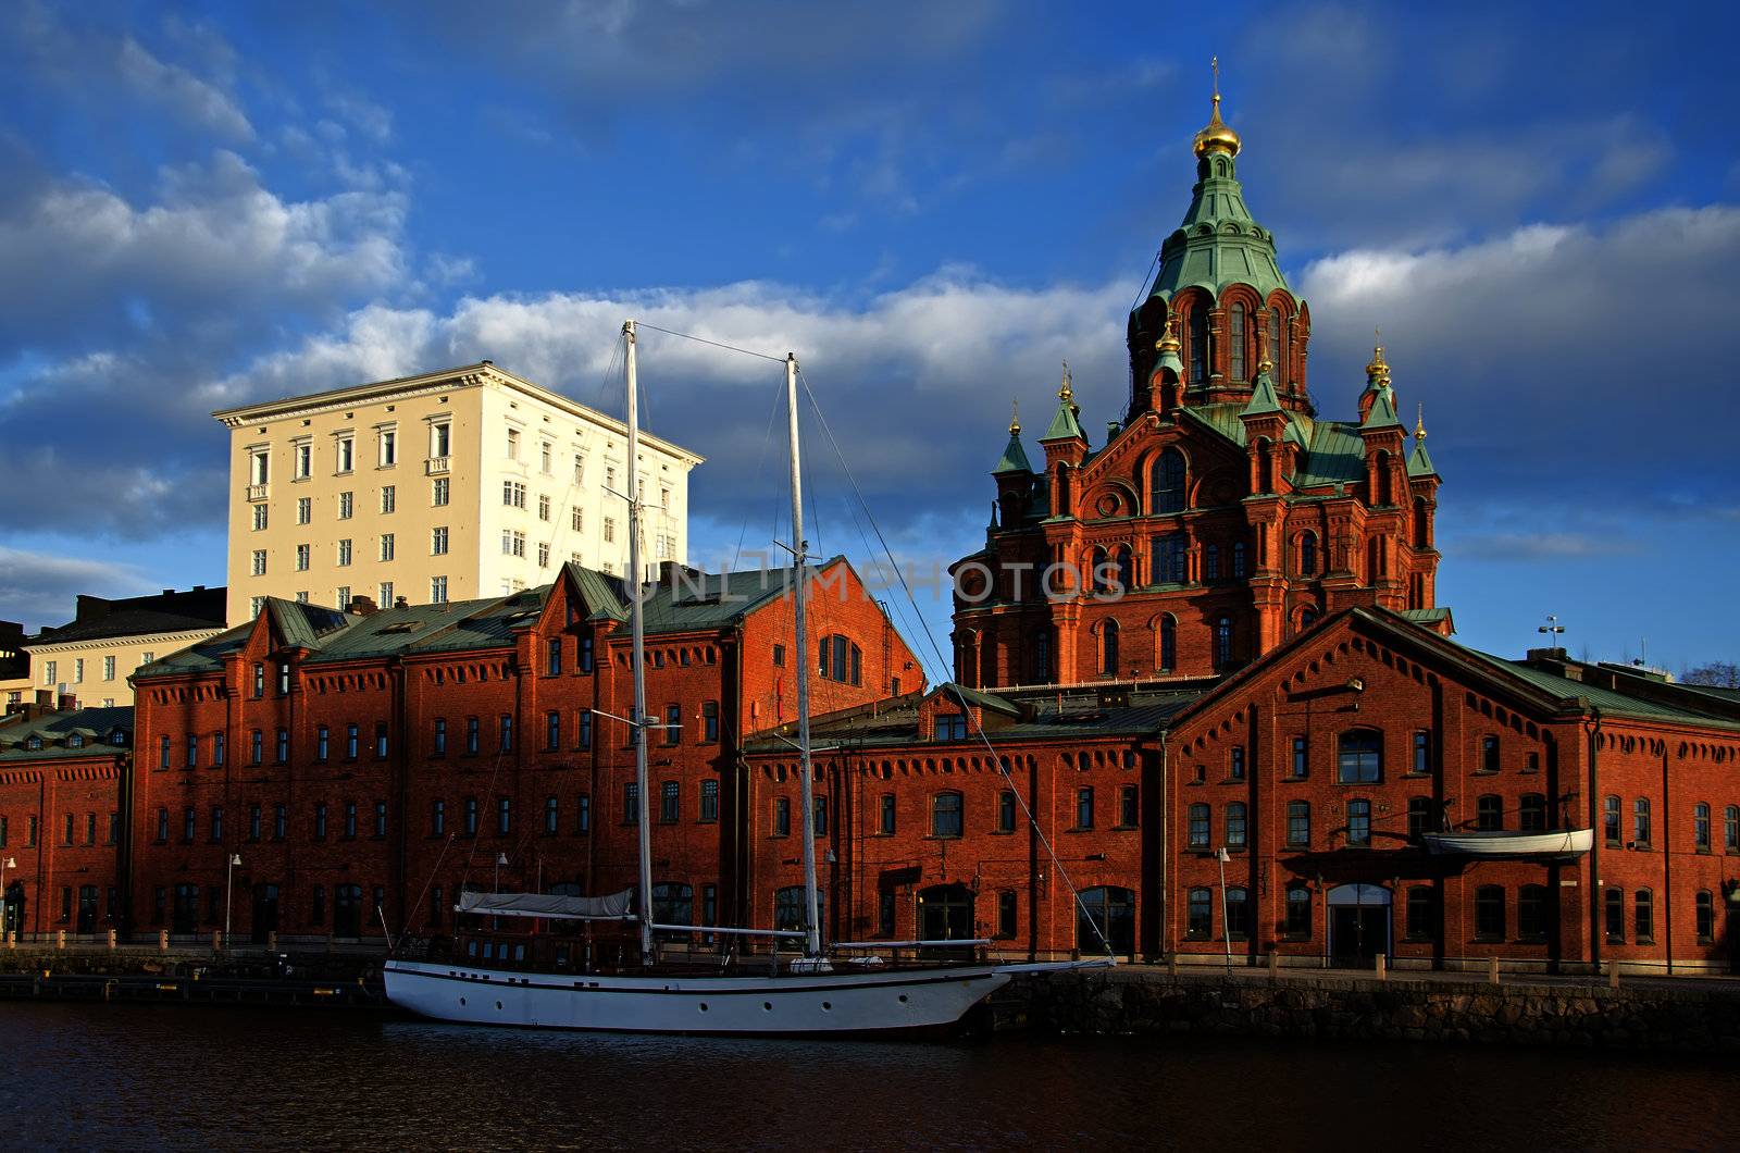
[{"label": "tall cream apartment building with flat roof behind the brick warehouse", "polygon": [[[505,596],[628,568],[626,427],[489,361],[212,413],[230,428],[230,624]],[[640,435],[642,561],[687,561],[701,456]]]}]

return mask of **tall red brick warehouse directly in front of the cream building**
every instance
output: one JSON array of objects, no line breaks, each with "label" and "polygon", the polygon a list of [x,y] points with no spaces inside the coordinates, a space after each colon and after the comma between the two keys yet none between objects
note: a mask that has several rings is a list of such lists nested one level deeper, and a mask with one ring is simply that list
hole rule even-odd
[{"label": "tall red brick warehouse directly in front of the cream building", "polygon": [[[666,566],[646,601],[652,853],[672,918],[738,918],[745,732],[793,709],[786,571]],[[917,662],[844,561],[813,576],[818,709],[900,693]],[[264,939],[445,923],[465,885],[635,880],[626,590],[566,566],[494,601],[362,615],[271,599],[136,676],[132,927]],[[379,913],[378,913],[379,911]]]}]

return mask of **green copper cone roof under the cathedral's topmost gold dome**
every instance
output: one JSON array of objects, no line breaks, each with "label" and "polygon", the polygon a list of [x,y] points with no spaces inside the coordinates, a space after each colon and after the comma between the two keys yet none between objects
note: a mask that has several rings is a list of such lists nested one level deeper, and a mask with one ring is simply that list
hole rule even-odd
[{"label": "green copper cone roof under the cathedral's topmost gold dome", "polygon": [[1228,284],[1249,284],[1265,298],[1288,289],[1275,260],[1275,239],[1244,207],[1232,157],[1209,153],[1197,162],[1197,183],[1178,232],[1161,246],[1161,275],[1150,296],[1171,298],[1199,286],[1220,296]]}]

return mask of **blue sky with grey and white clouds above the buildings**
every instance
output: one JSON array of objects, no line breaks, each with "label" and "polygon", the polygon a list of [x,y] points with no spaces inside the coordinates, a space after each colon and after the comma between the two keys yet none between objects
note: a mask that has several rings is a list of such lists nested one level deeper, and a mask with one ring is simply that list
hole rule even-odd
[{"label": "blue sky with grey and white clouds above the buildings", "polygon": [[[212,409],[492,359],[619,411],[630,315],[799,355],[816,547],[872,559],[849,469],[901,563],[971,552],[1011,401],[1035,460],[1061,361],[1122,413],[1218,56],[1322,413],[1376,327],[1423,404],[1458,637],[1735,660],[1740,17],[1425,7],[0,5],[0,618],[223,583]],[[691,563],[766,550],[780,366],[640,373]]]}]

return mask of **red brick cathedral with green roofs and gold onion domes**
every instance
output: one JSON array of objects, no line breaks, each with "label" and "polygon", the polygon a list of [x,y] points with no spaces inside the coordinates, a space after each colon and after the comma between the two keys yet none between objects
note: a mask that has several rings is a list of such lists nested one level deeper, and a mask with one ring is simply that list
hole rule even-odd
[{"label": "red brick cathedral with green roofs and gold onion domes", "polygon": [[985,549],[952,570],[962,684],[1225,674],[1352,606],[1451,630],[1425,427],[1409,451],[1382,347],[1357,418],[1319,415],[1310,307],[1244,204],[1218,92],[1213,108],[1129,315],[1124,413],[1094,448],[1065,371],[1039,469],[1009,425]]}]

